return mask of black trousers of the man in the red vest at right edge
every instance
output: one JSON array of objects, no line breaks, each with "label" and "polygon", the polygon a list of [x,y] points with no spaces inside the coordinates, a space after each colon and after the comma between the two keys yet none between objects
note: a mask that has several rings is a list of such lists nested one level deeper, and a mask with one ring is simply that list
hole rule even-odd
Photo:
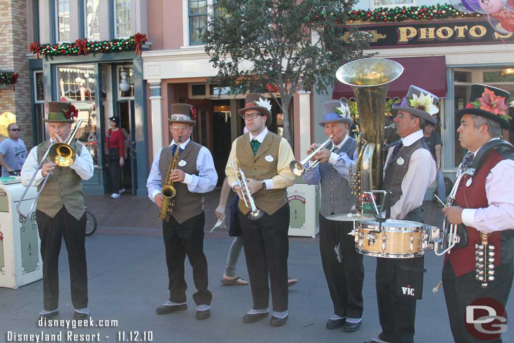
[{"label": "black trousers of the man in the red vest at right edge", "polygon": [[[476,299],[492,298],[500,302],[505,308],[505,304],[509,298],[510,288],[512,287],[514,263],[512,263],[512,261],[503,263],[502,261],[502,264],[495,267],[494,270],[495,280],[488,282],[487,288],[482,288],[481,282],[475,280],[474,271],[457,277],[455,276],[451,262],[446,261],[443,267],[443,288],[445,291],[448,317],[450,319],[450,328],[456,343],[502,341],[501,337],[492,340],[475,338],[466,330],[465,325],[466,306]],[[497,313],[497,316],[503,316],[503,314]],[[495,320],[490,324],[484,324],[484,329],[491,331],[498,330],[498,328],[491,328],[491,324],[500,324],[500,321]]]}]

